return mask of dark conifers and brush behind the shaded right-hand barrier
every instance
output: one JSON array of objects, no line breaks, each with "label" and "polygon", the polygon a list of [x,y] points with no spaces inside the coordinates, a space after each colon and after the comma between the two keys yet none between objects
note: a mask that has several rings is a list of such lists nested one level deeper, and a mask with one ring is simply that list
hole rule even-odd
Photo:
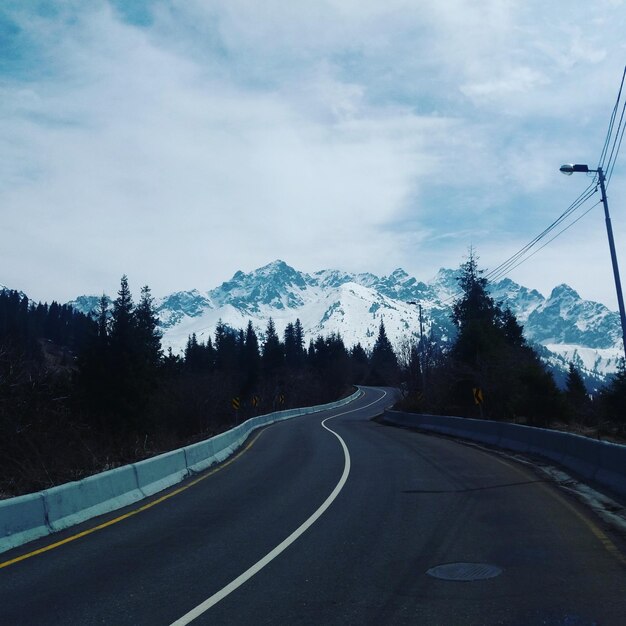
[{"label": "dark conifers and brush behind the shaded right-hand barrier", "polygon": [[470,250],[461,265],[461,295],[452,320],[457,336],[444,352],[431,337],[405,347],[406,386],[400,408],[484,417],[573,430],[626,441],[626,369],[591,397],[570,364],[565,389],[523,336],[513,313],[495,302]]}]

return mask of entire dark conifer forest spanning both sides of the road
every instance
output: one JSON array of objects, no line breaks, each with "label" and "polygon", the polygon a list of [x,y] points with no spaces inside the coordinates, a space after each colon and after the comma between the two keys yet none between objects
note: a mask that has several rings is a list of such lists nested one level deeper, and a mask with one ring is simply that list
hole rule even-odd
[{"label": "entire dark conifer forest spanning both sides of the road", "polygon": [[448,346],[425,336],[394,350],[382,319],[371,350],[337,334],[307,346],[299,319],[282,336],[269,319],[262,331],[220,322],[206,342],[190,336],[183,354],[163,352],[151,291],[143,287],[135,303],[126,276],[93,316],[0,291],[0,498],[206,439],[254,415],[330,402],[360,384],[399,387],[402,410],[626,440],[623,365],[593,398],[570,365],[561,390],[515,316],[488,295],[473,254],[459,286]]}]

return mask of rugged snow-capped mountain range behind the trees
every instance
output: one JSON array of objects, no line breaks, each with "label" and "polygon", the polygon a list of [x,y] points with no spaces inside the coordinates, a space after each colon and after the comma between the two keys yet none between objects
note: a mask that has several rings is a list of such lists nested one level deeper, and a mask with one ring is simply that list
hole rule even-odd
[{"label": "rugged snow-capped mountain range behind the trees", "polygon": [[[251,320],[262,337],[270,317],[279,333],[299,318],[307,341],[336,332],[346,345],[361,342],[364,347],[372,347],[382,319],[390,340],[399,346],[419,337],[416,304],[422,308],[424,332],[445,342],[455,332],[450,310],[459,294],[457,275],[456,270],[441,269],[432,280],[421,282],[402,269],[384,277],[339,270],[307,274],[274,261],[247,274],[239,271],[210,291],[177,292],[156,304],[163,345],[174,352],[184,348],[191,333],[199,341],[212,337],[220,320],[236,329]],[[544,346],[542,356],[552,365],[566,368],[574,361],[600,377],[615,371],[622,354],[617,313],[582,300],[567,285],[555,287],[548,298],[508,278],[490,288],[494,299],[524,325],[526,337]],[[98,301],[81,296],[71,304],[88,312]]]}]

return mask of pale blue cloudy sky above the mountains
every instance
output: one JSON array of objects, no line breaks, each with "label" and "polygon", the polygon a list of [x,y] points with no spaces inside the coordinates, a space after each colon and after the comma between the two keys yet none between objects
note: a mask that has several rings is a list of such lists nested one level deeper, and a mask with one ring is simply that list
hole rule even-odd
[{"label": "pale blue cloudy sky above the mountains", "polygon": [[[622,0],[4,0],[0,284],[493,269],[591,182],[558,168],[598,163],[624,32]],[[616,310],[602,206],[508,276]]]}]

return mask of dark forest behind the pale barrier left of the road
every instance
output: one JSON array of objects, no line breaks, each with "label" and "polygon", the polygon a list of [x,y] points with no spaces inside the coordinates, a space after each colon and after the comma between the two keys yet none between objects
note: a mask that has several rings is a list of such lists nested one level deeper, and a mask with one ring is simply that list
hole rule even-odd
[{"label": "dark forest behind the pale barrier left of the road", "polygon": [[304,344],[218,324],[183,355],[164,354],[148,287],[126,276],[93,318],[0,292],[0,497],[37,491],[199,441],[249,417],[322,404],[353,384],[397,382],[381,323],[371,353],[339,335]]}]

